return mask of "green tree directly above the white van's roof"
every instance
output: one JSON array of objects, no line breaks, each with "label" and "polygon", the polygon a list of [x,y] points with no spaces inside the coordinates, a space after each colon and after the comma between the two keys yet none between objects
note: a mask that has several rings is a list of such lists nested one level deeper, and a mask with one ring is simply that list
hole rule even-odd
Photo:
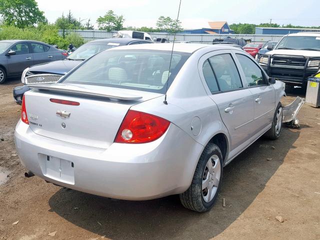
[{"label": "green tree directly above the white van's roof", "polygon": [[96,19],[100,30],[121,30],[123,28],[124,17],[116,15],[112,10],[108,10],[104,16],[99,16]]}]

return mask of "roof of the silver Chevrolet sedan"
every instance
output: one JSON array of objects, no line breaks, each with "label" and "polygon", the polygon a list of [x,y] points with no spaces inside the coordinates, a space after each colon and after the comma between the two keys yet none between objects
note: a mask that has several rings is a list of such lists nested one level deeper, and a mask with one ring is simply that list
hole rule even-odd
[{"label": "roof of the silver Chevrolet sedan", "polygon": [[[146,49],[146,50],[172,50],[173,43],[160,43],[160,44],[134,44],[125,45],[112,48],[112,50],[123,50],[123,49]],[[222,50],[222,49],[234,49],[232,46],[221,45],[221,44],[199,44],[199,43],[175,43],[173,51],[193,53],[194,51],[209,47],[212,50]]]}]

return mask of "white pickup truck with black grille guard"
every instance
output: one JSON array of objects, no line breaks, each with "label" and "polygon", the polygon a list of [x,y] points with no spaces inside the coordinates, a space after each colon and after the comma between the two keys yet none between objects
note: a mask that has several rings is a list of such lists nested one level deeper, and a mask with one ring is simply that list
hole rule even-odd
[{"label": "white pickup truck with black grille guard", "polygon": [[258,59],[269,76],[285,82],[286,88],[305,87],[307,77],[320,67],[320,32],[299,32],[282,37]]}]

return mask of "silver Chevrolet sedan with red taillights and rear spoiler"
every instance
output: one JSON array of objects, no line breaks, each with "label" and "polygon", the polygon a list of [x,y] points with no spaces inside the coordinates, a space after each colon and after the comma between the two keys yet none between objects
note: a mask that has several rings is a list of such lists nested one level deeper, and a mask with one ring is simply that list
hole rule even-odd
[{"label": "silver Chevrolet sedan with red taillights and rear spoiler", "polygon": [[[102,51],[24,95],[22,164],[58,185],[145,200],[179,194],[209,210],[223,166],[279,137],[284,83],[227,45],[137,44]],[[172,54],[172,55],[171,55]]]}]

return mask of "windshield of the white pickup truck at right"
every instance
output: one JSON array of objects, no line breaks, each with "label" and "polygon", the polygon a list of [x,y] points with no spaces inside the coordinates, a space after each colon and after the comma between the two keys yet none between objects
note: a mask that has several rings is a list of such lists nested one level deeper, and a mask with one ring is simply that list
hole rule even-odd
[{"label": "windshield of the white pickup truck at right", "polygon": [[319,36],[285,36],[275,49],[320,50]]}]

